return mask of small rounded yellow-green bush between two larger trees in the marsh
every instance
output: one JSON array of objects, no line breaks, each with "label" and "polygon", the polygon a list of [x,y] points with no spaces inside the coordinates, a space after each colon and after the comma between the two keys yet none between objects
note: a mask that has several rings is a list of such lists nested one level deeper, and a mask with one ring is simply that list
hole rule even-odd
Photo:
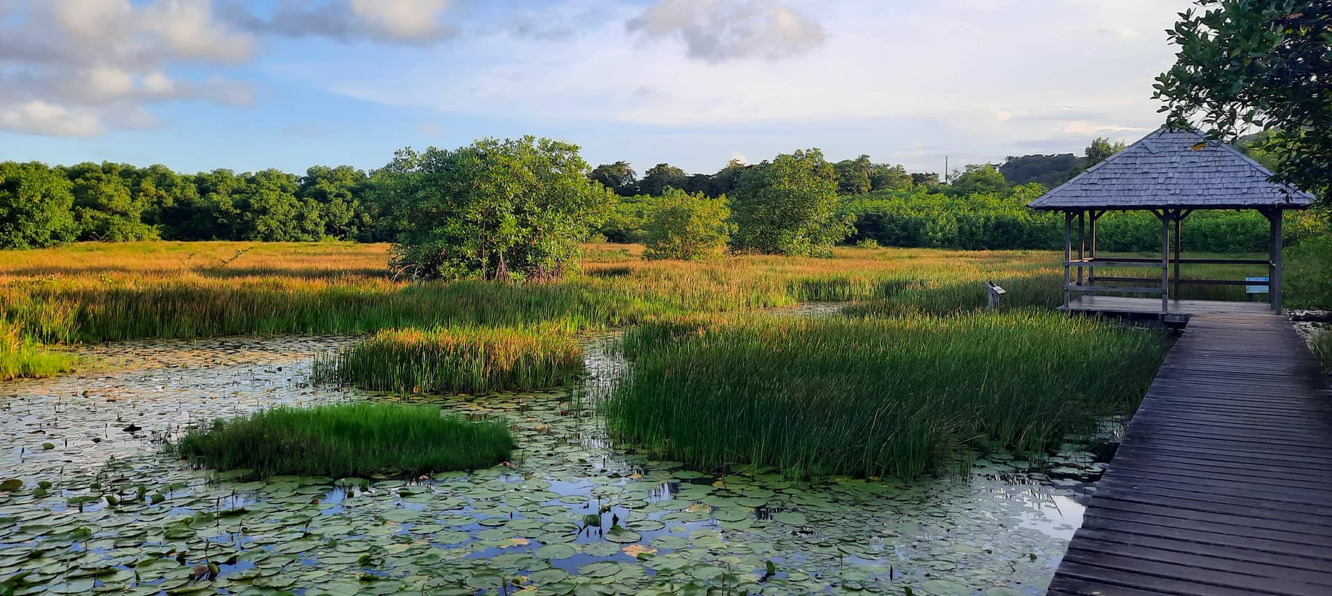
[{"label": "small rounded yellow-green bush between two larger trees in the marsh", "polygon": [[726,197],[709,198],[667,189],[661,205],[647,218],[643,258],[711,261],[726,251],[735,226]]}]

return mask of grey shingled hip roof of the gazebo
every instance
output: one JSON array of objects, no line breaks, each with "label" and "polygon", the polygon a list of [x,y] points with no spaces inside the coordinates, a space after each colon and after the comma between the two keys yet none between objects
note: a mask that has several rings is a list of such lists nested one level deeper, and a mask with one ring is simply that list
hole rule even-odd
[{"label": "grey shingled hip roof of the gazebo", "polygon": [[[1199,144],[1201,148],[1193,149]],[[1158,129],[1027,204],[1034,209],[1305,209],[1313,196],[1192,130]]]}]

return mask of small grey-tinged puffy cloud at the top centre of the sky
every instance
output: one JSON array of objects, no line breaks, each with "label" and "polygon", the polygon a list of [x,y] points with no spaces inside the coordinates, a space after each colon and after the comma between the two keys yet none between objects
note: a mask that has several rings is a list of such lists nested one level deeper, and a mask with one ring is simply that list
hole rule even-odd
[{"label": "small grey-tinged puffy cloud at the top centre of the sky", "polygon": [[658,0],[627,27],[649,39],[678,37],[689,57],[709,63],[783,59],[827,37],[818,23],[771,0]]}]

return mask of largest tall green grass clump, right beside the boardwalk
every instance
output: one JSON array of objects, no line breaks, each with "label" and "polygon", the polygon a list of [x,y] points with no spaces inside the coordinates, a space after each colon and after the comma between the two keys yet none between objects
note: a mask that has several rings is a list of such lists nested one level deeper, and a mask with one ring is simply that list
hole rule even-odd
[{"label": "largest tall green grass clump, right beside the boardwalk", "polygon": [[1036,451],[1136,407],[1167,350],[1147,330],[1016,311],[713,318],[629,331],[610,428],[713,470],[915,476],[975,442]]}]

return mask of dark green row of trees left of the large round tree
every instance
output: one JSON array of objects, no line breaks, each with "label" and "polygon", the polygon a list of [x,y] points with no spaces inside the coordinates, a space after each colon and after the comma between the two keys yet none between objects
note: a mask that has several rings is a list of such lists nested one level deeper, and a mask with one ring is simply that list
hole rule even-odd
[{"label": "dark green row of trees left of the large round tree", "polygon": [[390,239],[352,166],[181,174],[163,165],[0,162],[0,247],[73,241]]}]

